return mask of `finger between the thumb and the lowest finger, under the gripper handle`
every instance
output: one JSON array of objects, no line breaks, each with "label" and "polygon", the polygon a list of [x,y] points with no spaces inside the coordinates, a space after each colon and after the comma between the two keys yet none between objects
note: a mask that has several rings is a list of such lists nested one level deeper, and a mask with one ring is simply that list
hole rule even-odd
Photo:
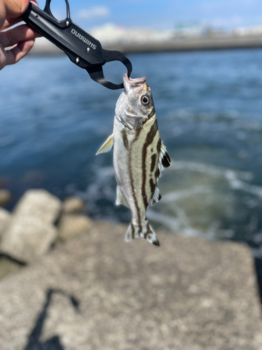
[{"label": "finger between the thumb and the lowest finger, under the gripper handle", "polygon": [[27,27],[27,25],[20,25],[8,31],[0,32],[0,43],[3,45],[3,48],[8,48],[13,46],[21,41],[30,40],[41,36],[36,33],[33,29]]}]

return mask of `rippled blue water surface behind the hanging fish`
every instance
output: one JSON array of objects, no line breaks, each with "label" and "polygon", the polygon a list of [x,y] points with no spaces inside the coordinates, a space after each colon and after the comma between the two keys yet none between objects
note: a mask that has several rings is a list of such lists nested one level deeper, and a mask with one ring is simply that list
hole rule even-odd
[{"label": "rippled blue water surface behind the hanging fish", "polygon": [[[148,211],[154,228],[246,241],[262,258],[262,50],[128,55],[147,76],[172,160]],[[121,81],[119,64],[106,69]],[[67,57],[28,57],[0,72],[0,180],[13,203],[28,188],[78,195],[96,220],[129,222],[115,207],[112,132],[120,91]],[[1,181],[0,181],[1,182]]]}]

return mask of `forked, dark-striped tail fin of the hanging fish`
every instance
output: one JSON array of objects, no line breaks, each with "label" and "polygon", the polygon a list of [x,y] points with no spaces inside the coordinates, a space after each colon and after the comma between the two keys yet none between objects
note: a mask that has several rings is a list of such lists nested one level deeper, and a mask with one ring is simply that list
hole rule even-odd
[{"label": "forked, dark-striped tail fin of the hanging fish", "polygon": [[146,220],[143,225],[133,225],[132,221],[126,232],[126,241],[132,241],[138,237],[145,238],[150,243],[155,246],[159,246],[159,240],[157,239],[154,230],[150,226],[150,223]]}]

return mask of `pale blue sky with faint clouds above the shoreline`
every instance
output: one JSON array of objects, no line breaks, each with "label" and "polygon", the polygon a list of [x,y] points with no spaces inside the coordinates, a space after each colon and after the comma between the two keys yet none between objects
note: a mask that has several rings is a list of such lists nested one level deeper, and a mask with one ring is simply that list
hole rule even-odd
[{"label": "pale blue sky with faint clouds above the shoreline", "polygon": [[[83,29],[114,23],[125,27],[173,29],[177,25],[210,25],[233,29],[262,25],[261,0],[68,0],[71,18]],[[38,0],[44,8],[45,0]],[[52,0],[59,20],[66,13],[64,0]]]}]

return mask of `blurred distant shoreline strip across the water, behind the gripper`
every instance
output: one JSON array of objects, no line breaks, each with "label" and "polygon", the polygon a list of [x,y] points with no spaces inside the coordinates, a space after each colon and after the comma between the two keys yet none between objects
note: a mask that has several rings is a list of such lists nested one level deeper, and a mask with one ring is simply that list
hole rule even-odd
[{"label": "blurred distant shoreline strip across the water, behind the gripper", "polygon": [[[103,44],[102,44],[103,45]],[[183,52],[199,50],[225,50],[241,48],[262,48],[262,36],[203,36],[174,39],[167,42],[149,42],[149,43],[115,43],[114,45],[105,44],[103,48],[107,50],[118,50],[124,53],[131,52]],[[34,56],[52,56],[63,55],[64,52],[52,43],[45,45],[34,45],[30,55]]]}]

